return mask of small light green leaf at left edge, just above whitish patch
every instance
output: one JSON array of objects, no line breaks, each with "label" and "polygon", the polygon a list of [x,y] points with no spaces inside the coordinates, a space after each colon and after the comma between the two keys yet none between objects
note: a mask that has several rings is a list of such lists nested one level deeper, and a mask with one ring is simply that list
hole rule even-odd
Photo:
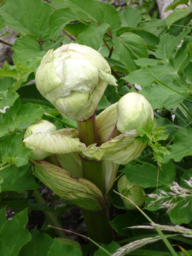
[{"label": "small light green leaf at left edge, just above whitish patch", "polygon": [[[3,88],[2,88],[3,89]],[[13,87],[10,86],[5,91],[2,90],[0,92],[0,97],[3,99],[0,99],[0,109],[3,109],[3,107],[6,106],[13,106],[15,100],[19,97],[17,92],[13,91]]]}]

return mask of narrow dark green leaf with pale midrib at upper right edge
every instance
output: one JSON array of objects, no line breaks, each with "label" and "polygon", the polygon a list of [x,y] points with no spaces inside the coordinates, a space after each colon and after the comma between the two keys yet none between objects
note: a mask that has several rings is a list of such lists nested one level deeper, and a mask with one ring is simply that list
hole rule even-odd
[{"label": "narrow dark green leaf with pale midrib at upper right edge", "polygon": [[188,44],[191,43],[190,41],[186,39],[175,55],[174,66],[177,73],[183,72],[191,60],[191,52],[188,49]]}]

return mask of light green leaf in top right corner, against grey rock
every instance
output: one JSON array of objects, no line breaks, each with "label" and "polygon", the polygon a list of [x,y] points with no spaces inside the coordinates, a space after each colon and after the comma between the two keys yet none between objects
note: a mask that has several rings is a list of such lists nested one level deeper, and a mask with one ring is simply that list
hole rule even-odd
[{"label": "light green leaf in top right corner, against grey rock", "polygon": [[168,17],[166,17],[166,24],[168,25],[168,28],[170,28],[170,25],[172,25],[175,21],[180,20],[191,13],[191,6],[188,8],[177,8],[174,10],[173,13],[170,13]]}]

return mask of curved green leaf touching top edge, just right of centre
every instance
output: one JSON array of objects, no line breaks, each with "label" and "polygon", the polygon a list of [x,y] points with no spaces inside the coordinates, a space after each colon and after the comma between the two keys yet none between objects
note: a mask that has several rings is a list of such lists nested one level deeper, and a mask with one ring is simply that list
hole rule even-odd
[{"label": "curved green leaf touching top edge, just right of centre", "polygon": [[115,32],[118,30],[121,26],[121,19],[120,15],[117,12],[116,8],[108,3],[102,3],[98,2],[100,6],[102,7],[102,10],[104,11],[104,23],[107,23],[111,27],[111,33]]}]

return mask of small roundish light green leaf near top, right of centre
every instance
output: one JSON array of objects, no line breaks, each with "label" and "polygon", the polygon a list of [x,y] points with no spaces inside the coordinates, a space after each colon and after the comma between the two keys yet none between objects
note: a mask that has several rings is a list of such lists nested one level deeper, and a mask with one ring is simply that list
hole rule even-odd
[{"label": "small roundish light green leaf near top, right of centre", "polygon": [[122,27],[137,28],[141,19],[141,13],[138,9],[127,6],[120,13]]}]

